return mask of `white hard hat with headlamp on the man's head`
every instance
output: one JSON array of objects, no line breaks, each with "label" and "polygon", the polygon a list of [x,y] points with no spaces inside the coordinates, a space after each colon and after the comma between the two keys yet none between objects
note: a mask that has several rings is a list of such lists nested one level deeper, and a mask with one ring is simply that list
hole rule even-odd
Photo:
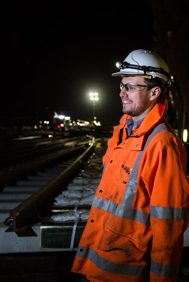
[{"label": "white hard hat with headlamp on the man's head", "polygon": [[162,80],[163,87],[170,86],[170,71],[167,63],[156,53],[139,49],[132,51],[125,60],[118,62],[116,66],[120,69],[119,72],[112,74],[113,76],[130,75],[149,75],[152,78]]}]

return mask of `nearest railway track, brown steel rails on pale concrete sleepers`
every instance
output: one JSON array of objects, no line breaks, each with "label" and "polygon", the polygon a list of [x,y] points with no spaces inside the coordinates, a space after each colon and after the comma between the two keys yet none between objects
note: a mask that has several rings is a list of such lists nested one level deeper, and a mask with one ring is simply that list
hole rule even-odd
[{"label": "nearest railway track, brown steel rails on pale concrete sleepers", "polygon": [[[35,161],[28,158],[24,165],[14,164],[14,168],[0,173],[0,239],[4,242],[0,254],[49,251],[40,247],[41,221],[52,214],[54,199],[66,189],[100,140],[72,138],[66,146],[64,142],[63,149],[58,142],[58,151],[53,149],[52,153],[51,146],[50,155],[43,154]],[[47,148],[44,151],[47,154]]]}]

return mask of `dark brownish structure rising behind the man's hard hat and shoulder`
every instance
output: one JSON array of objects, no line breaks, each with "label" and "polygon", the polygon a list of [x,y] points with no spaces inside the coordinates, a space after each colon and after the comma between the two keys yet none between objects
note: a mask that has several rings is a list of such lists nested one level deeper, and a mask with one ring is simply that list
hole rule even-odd
[{"label": "dark brownish structure rising behind the man's hard hat and shoulder", "polygon": [[167,118],[183,141],[184,130],[189,132],[189,1],[146,2],[154,17],[153,51],[165,59],[172,76]]}]

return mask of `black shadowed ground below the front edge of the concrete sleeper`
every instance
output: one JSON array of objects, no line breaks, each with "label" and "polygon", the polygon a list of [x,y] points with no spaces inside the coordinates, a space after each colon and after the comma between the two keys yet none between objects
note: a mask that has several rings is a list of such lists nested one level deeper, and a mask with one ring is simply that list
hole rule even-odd
[{"label": "black shadowed ground below the front edge of the concrete sleeper", "polygon": [[[2,242],[1,242],[2,243]],[[0,255],[1,282],[85,282],[72,273],[76,252]],[[189,281],[189,247],[184,247],[177,282]]]}]

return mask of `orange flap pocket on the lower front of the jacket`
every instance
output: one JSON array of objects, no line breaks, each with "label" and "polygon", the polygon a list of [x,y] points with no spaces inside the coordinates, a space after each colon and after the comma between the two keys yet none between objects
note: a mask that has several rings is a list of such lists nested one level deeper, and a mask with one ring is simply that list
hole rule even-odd
[{"label": "orange flap pocket on the lower front of the jacket", "polygon": [[124,251],[128,256],[133,257],[134,260],[141,260],[146,252],[146,248],[147,246],[138,243],[126,235],[116,233],[108,227],[98,245],[98,249],[102,251]]}]

